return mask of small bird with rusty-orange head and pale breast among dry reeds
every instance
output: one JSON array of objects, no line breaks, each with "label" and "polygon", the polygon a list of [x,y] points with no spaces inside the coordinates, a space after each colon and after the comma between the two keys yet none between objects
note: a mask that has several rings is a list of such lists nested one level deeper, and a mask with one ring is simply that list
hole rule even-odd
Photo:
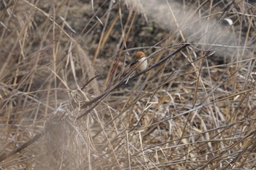
[{"label": "small bird with rusty-orange head and pale breast among dry reeds", "polygon": [[137,72],[141,72],[145,70],[148,66],[148,61],[145,53],[143,53],[142,51],[136,52],[130,66],[132,69],[135,69],[135,71]]}]

